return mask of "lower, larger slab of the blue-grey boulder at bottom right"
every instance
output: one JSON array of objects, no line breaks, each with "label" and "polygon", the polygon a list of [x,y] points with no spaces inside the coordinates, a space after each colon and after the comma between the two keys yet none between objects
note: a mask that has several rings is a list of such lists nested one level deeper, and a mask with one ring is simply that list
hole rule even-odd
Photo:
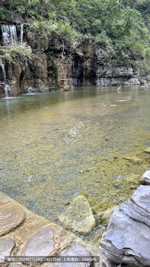
[{"label": "lower, larger slab of the blue-grey boulder at bottom right", "polygon": [[114,264],[150,266],[150,228],[120,212],[112,212],[100,242],[100,255]]}]

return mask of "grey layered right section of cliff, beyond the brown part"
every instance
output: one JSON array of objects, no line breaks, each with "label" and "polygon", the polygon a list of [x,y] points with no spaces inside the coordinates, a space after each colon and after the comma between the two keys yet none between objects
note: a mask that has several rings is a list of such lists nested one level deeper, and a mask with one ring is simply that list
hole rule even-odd
[{"label": "grey layered right section of cliff, beyond the brown part", "polygon": [[[84,40],[79,47],[83,56],[73,56],[70,77],[73,86],[130,85],[146,82],[146,77],[140,69],[117,66],[117,60],[109,61],[106,51],[93,45],[92,40]],[[127,53],[129,61],[138,62],[129,50]]]}]

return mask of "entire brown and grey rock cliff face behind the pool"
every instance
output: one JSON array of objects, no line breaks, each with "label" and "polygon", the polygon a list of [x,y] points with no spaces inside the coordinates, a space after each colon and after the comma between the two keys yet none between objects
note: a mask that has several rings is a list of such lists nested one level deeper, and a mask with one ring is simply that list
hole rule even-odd
[{"label": "entire brown and grey rock cliff face behind the pool", "polygon": [[[19,15],[18,15],[19,16]],[[13,23],[22,22],[21,17],[14,17]],[[6,22],[0,21],[1,24]],[[92,85],[130,85],[146,82],[146,77],[138,68],[117,66],[117,61],[108,61],[106,51],[96,47],[92,40],[84,40],[79,44],[78,53],[71,47],[64,49],[58,40],[47,40],[35,35],[26,23],[23,39],[31,46],[33,54],[28,64],[16,62],[7,64],[5,71],[8,96],[18,96],[22,93],[47,92],[55,90],[73,90],[77,86]],[[19,36],[19,30],[17,29]],[[0,27],[0,43],[2,31]],[[129,59],[132,58],[129,52]],[[73,87],[74,86],[74,87]],[[0,68],[0,97],[5,96],[5,84]]]}]

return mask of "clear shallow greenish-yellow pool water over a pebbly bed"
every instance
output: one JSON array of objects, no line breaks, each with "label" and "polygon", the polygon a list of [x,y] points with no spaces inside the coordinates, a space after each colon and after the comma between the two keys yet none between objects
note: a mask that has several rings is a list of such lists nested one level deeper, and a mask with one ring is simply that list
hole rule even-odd
[{"label": "clear shallow greenish-yellow pool water over a pebbly bed", "polygon": [[[121,89],[1,98],[0,190],[53,222],[83,190],[100,223],[101,212],[125,202],[149,167],[150,90]],[[84,126],[67,143],[65,135],[79,122]],[[141,165],[124,159],[137,156]],[[98,231],[88,236],[95,244]]]}]

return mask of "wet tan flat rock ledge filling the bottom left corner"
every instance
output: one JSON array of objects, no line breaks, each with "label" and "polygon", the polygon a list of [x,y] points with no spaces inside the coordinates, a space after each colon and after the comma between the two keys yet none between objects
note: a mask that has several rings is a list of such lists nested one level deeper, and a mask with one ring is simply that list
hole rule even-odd
[{"label": "wet tan flat rock ledge filling the bottom left corner", "polygon": [[[23,267],[5,256],[100,256],[82,239],[0,192],[0,267]],[[100,261],[102,257],[100,256]],[[29,265],[30,263],[28,263]],[[38,267],[92,267],[93,263],[37,263]],[[95,263],[101,267],[101,263]]]}]

